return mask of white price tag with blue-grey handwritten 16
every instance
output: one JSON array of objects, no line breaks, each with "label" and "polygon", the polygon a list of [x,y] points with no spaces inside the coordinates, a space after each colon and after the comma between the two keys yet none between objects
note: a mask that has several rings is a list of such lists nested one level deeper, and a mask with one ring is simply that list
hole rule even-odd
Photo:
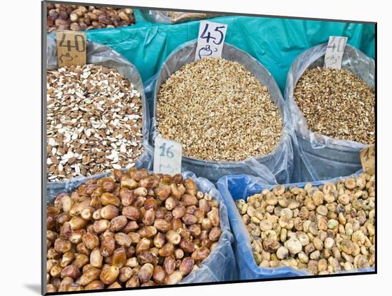
[{"label": "white price tag with blue-grey handwritten 16", "polygon": [[182,145],[165,138],[155,138],[154,173],[181,173]]}]

